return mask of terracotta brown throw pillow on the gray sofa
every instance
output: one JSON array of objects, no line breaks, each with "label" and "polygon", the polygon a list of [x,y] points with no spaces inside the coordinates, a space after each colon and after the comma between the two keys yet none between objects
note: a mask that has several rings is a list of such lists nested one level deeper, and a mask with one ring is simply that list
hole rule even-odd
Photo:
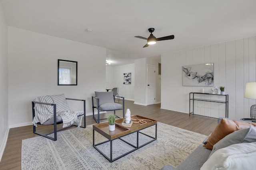
[{"label": "terracotta brown throw pillow on the gray sofa", "polygon": [[243,121],[234,121],[230,119],[221,119],[217,127],[214,129],[210,137],[204,143],[204,147],[212,150],[213,145],[215,145],[220,139],[224,138],[226,135],[238,131],[240,129],[247,129],[250,126],[256,126],[254,123],[247,123]]}]

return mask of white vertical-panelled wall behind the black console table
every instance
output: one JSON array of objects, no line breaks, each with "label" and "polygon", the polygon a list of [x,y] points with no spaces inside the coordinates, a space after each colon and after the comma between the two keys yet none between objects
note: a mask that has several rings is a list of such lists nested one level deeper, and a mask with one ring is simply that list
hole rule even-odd
[{"label": "white vertical-panelled wall behind the black console table", "polygon": [[[189,112],[189,93],[211,92],[212,87],[182,86],[182,66],[214,63],[214,86],[226,86],[229,95],[229,117],[250,117],[250,106],[255,100],[244,98],[246,82],[255,82],[256,37],[228,41],[162,55],[163,109]],[[219,99],[217,96],[203,98]],[[200,102],[195,113],[210,117],[225,116],[224,104]],[[195,104],[197,106],[197,104]]]}]

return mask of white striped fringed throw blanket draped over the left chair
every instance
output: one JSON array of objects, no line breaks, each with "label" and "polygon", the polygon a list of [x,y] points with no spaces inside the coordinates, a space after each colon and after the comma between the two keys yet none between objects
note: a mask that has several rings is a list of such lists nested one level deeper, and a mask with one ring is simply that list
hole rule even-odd
[{"label": "white striped fringed throw blanket draped over the left chair", "polygon": [[[83,117],[82,114],[84,114],[84,111],[70,111],[64,94],[40,96],[40,97],[37,97],[34,100],[34,102],[56,104],[56,116],[60,115],[60,117],[62,118],[63,127],[72,125],[74,121],[78,124],[78,127],[80,127],[82,123],[82,117]],[[38,122],[43,124],[48,119],[51,119],[52,117],[54,117],[53,106],[45,105],[45,104],[35,104],[34,109],[35,109],[35,117],[33,119],[34,126],[36,126],[36,123]],[[78,116],[78,115],[82,115],[82,116]]]}]

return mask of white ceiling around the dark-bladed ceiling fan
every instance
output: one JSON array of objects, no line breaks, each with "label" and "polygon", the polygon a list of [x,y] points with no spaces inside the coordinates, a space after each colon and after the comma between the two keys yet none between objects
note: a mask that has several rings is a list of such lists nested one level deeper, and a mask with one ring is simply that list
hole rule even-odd
[{"label": "white ceiling around the dark-bladed ceiling fan", "polygon": [[[256,0],[0,1],[8,25],[105,47],[113,66],[256,35]],[[134,36],[150,27],[175,38],[142,48],[146,40]]]}]

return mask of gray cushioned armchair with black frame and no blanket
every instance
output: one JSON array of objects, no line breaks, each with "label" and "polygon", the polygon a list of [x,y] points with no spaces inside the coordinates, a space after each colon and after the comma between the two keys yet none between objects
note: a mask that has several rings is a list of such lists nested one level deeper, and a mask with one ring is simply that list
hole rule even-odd
[{"label": "gray cushioned armchair with black frame and no blanket", "polygon": [[[97,123],[100,123],[100,120],[106,119],[100,119],[100,111],[114,111],[114,115],[116,115],[116,110],[123,110],[124,118],[124,97],[118,96],[122,98],[123,105],[115,103],[115,97],[113,92],[95,92],[95,96],[92,96],[92,114]],[[97,119],[94,115],[94,108],[98,110]]]}]

